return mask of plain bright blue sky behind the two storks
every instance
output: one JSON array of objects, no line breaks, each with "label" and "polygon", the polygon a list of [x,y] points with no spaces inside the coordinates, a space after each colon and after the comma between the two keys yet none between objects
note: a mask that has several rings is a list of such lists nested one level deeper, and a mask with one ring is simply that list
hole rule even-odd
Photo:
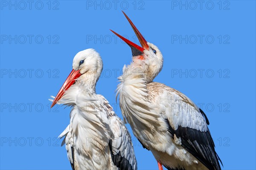
[{"label": "plain bright blue sky behind the two storks", "polygon": [[[163,53],[163,70],[154,81],[183,92],[207,114],[223,169],[256,169],[255,1],[1,0],[0,5],[0,169],[71,169],[56,138],[69,124],[70,108],[49,109],[48,98],[83,49],[101,54],[96,92],[122,118],[115,89],[131,49],[109,29],[138,43],[122,10]],[[132,138],[138,169],[157,170],[152,154]]]}]

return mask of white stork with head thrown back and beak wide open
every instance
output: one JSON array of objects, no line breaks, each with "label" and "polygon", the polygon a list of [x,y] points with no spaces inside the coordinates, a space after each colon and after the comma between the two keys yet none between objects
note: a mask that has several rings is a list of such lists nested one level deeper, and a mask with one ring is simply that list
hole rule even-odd
[{"label": "white stork with head thrown back and beak wide open", "polygon": [[168,170],[221,170],[206,115],[181,92],[153,82],[163,56],[125,17],[142,47],[111,31],[132,50],[132,62],[123,68],[116,95],[134,135],[153,153],[160,170],[162,165]]}]

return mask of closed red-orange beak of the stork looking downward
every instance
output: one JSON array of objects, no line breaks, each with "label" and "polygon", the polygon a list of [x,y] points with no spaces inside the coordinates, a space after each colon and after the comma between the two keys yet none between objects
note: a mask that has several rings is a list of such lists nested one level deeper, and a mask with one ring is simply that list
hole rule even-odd
[{"label": "closed red-orange beak of the stork looking downward", "polygon": [[61,86],[61,89],[59,90],[58,94],[54,98],[51,108],[61,99],[61,97],[64,95],[64,92],[70,88],[75,82],[76,79],[81,76],[80,70],[74,70],[70,72],[70,75],[67,77],[64,84]]}]

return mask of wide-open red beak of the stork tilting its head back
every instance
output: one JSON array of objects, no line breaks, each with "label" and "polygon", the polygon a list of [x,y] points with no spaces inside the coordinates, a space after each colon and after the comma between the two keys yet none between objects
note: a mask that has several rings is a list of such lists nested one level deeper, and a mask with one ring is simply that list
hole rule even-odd
[{"label": "wide-open red beak of the stork tilting its head back", "polygon": [[[123,12],[123,11],[122,11]],[[134,30],[136,36],[138,37],[140,44],[142,47],[138,46],[137,44],[131,42],[130,40],[126,39],[125,37],[122,37],[121,35],[117,34],[116,32],[114,32],[113,30],[111,30],[115,35],[117,35],[119,38],[121,38],[123,41],[125,41],[125,43],[127,43],[130,47],[131,47],[131,51],[132,51],[132,55],[133,56],[137,56],[137,55],[142,55],[143,51],[146,49],[148,50],[148,43],[145,40],[145,38],[141,35],[141,33],[139,32],[139,30],[136,28],[136,26],[134,26],[134,24],[131,22],[130,18],[125,14],[125,12],[123,12],[123,14],[125,15],[126,19],[129,21],[129,23],[131,24],[132,29]]]}]

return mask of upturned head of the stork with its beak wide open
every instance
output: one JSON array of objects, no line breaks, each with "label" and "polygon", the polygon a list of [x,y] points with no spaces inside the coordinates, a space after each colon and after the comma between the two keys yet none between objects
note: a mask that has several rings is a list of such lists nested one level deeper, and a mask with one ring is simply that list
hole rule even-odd
[{"label": "upturned head of the stork with its beak wide open", "polygon": [[131,27],[133,28],[135,34],[137,35],[141,46],[131,42],[130,40],[122,37],[113,30],[111,30],[115,35],[120,37],[125,43],[131,47],[132,52],[132,64],[135,67],[139,67],[145,73],[148,82],[153,81],[153,79],[158,75],[163,67],[163,55],[160,50],[152,43],[148,43],[136,26],[131,22],[130,18],[123,12]]}]

